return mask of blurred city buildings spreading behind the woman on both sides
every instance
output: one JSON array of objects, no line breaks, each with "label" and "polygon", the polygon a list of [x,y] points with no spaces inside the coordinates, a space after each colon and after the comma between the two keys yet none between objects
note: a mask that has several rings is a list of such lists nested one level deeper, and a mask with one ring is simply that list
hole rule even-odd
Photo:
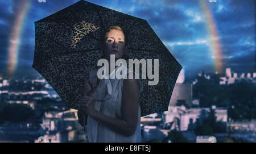
[{"label": "blurred city buildings spreading behind the woman on both sides", "polygon": [[[234,74],[236,72],[226,68],[226,77],[234,76]],[[242,78],[253,79],[255,85],[255,74],[254,76]],[[199,73],[198,77],[213,80],[212,76],[207,76],[203,72]],[[241,76],[234,77],[240,78]],[[176,105],[170,102],[168,111],[141,117],[143,142],[166,142],[166,139],[169,138],[168,133],[175,133],[175,131],[179,131],[177,133],[181,133],[189,142],[205,142],[210,134],[205,134],[202,130],[201,132],[196,131],[196,128],[199,128],[197,127],[197,121],[199,122],[200,119],[203,120],[209,117],[210,109],[216,112],[216,124],[218,129],[221,128],[221,130],[216,130],[216,128],[213,130],[215,132],[213,136],[216,136],[217,142],[225,142],[226,139],[232,139],[234,142],[238,142],[241,139],[255,142],[255,134],[253,134],[256,128],[255,119],[233,120],[228,113],[230,110],[237,109],[237,105],[200,106],[200,99],[192,97],[192,85],[195,85],[195,83],[185,82],[184,79],[184,70],[182,70],[176,83],[179,88],[176,89],[177,93],[172,95],[172,98],[177,102]],[[223,86],[221,82],[218,84]],[[227,82],[227,84],[236,85],[238,83],[232,81],[230,83]],[[9,116],[13,118],[0,124],[0,141],[38,142],[40,136],[46,139],[45,142],[86,142],[86,132],[77,122],[77,110],[64,107],[64,103],[53,91],[42,76],[26,80],[6,80],[0,77],[0,100],[8,103],[10,107],[18,105],[30,106],[35,113],[29,119],[19,121],[16,119],[17,117],[7,114],[9,111],[6,111],[5,116],[2,116],[2,118],[8,119]],[[177,97],[174,94],[179,94],[179,96]],[[179,104],[182,101],[185,104]],[[0,105],[2,105],[2,102],[0,102]],[[18,114],[18,116],[20,115]],[[24,116],[22,117],[24,118]],[[168,141],[170,141],[170,138]],[[176,142],[177,140],[171,141]],[[183,141],[179,140],[178,142]]]}]

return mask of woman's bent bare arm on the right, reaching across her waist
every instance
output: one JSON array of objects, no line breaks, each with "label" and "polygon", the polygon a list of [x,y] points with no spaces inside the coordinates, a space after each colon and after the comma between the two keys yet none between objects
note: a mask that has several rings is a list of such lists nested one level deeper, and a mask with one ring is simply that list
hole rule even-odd
[{"label": "woman's bent bare arm on the right, reaching across her waist", "polygon": [[124,79],[122,91],[122,118],[112,118],[97,110],[90,116],[119,134],[131,136],[138,122],[139,89],[136,79]]}]

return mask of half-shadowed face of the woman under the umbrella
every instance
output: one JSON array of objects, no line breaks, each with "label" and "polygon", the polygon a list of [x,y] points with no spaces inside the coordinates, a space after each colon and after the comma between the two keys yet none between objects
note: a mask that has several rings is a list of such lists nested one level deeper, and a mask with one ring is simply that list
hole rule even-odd
[{"label": "half-shadowed face of the woman under the umbrella", "polygon": [[123,53],[127,51],[123,32],[115,29],[107,32],[101,49],[104,52],[105,59],[110,59],[110,55],[115,55],[116,60],[121,59]]}]

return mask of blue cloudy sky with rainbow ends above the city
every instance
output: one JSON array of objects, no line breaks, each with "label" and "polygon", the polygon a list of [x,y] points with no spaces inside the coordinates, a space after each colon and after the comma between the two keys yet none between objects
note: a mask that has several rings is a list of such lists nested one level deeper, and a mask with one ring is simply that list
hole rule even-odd
[{"label": "blue cloudy sky with rainbow ends above the city", "polygon": [[[6,73],[10,57],[14,73],[36,73],[34,22],[79,0],[0,0],[0,73]],[[146,19],[187,77],[201,70],[255,71],[254,0],[88,0],[125,14]],[[28,4],[24,7],[24,3]],[[23,10],[22,10],[23,8]],[[24,9],[26,8],[26,9]],[[23,14],[23,15],[21,15]],[[215,31],[213,31],[215,30]],[[16,36],[16,37],[15,37]],[[214,41],[217,40],[217,41]],[[11,44],[17,44],[16,49]],[[216,49],[218,45],[218,49]],[[16,54],[11,55],[11,48]],[[15,53],[15,52],[14,52]]]}]

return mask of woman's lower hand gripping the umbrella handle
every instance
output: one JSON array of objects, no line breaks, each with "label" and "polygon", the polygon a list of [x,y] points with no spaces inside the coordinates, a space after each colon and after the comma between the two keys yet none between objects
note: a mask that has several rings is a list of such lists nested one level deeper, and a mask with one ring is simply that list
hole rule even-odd
[{"label": "woman's lower hand gripping the umbrella handle", "polygon": [[94,108],[93,98],[84,95],[80,101],[79,109],[81,109],[87,115],[92,115],[92,113],[96,111]]}]

